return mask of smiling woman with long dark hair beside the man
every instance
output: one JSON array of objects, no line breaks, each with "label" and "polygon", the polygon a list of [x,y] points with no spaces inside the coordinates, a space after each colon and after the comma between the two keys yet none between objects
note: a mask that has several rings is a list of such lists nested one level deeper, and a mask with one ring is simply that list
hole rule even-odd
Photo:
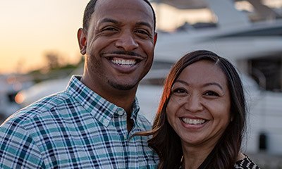
[{"label": "smiling woman with long dark hair beside the man", "polygon": [[233,65],[211,51],[186,54],[164,84],[149,146],[159,168],[258,168],[240,152],[245,97]]}]

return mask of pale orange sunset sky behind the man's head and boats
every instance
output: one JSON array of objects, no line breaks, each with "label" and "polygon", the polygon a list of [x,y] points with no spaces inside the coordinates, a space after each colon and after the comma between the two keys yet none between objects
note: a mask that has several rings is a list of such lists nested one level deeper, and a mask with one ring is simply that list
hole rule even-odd
[{"label": "pale orange sunset sky behind the man's head and boats", "polygon": [[[68,63],[78,62],[81,56],[76,33],[88,1],[0,0],[0,74],[41,68],[49,52]],[[211,20],[209,11],[176,11],[159,6],[156,12],[157,27],[163,30],[171,30],[184,20]]]}]

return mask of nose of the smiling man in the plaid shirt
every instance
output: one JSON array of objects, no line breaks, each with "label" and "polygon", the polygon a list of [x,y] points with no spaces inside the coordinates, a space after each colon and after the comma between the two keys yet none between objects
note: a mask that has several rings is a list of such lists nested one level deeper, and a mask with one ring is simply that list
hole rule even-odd
[{"label": "nose of the smiling man in the plaid shirt", "polygon": [[116,41],[116,47],[123,48],[125,51],[133,51],[138,46],[133,33],[129,31],[122,32]]}]

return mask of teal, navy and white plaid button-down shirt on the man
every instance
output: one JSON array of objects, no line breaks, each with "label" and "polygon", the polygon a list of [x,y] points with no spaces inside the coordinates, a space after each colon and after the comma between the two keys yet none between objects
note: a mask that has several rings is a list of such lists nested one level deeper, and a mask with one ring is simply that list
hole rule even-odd
[{"label": "teal, navy and white plaid button-down shirt on the man", "polygon": [[12,115],[0,127],[0,168],[157,168],[158,157],[137,99],[128,133],[126,113],[72,77],[64,92]]}]

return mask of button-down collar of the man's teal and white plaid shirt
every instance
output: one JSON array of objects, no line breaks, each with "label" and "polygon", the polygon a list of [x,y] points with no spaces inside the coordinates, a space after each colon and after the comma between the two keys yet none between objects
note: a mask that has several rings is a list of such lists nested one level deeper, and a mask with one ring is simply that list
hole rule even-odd
[{"label": "button-down collar of the man's teal and white plaid shirt", "polygon": [[[68,82],[66,91],[71,94],[71,96],[73,96],[87,112],[90,112],[94,118],[99,120],[100,123],[108,126],[114,113],[118,113],[118,115],[123,115],[123,113],[125,113],[123,108],[112,104],[102,96],[99,96],[99,94],[93,92],[90,88],[85,86],[85,84],[80,82],[80,79],[81,76],[73,75],[70,82]],[[136,119],[139,110],[139,103],[135,97],[131,115],[132,119]]]}]

